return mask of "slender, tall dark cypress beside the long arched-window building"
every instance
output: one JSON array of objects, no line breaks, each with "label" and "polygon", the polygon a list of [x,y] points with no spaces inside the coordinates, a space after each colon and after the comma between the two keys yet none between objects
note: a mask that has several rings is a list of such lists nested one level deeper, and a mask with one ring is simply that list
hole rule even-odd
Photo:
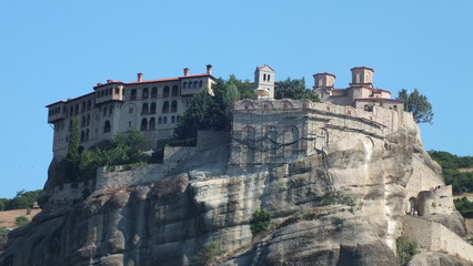
[{"label": "slender, tall dark cypress beside the long arched-window building", "polygon": [[80,164],[80,154],[79,154],[79,124],[78,119],[74,117],[71,121],[69,135],[69,147],[68,154],[66,155],[66,174],[71,180],[79,178],[79,164]]}]

